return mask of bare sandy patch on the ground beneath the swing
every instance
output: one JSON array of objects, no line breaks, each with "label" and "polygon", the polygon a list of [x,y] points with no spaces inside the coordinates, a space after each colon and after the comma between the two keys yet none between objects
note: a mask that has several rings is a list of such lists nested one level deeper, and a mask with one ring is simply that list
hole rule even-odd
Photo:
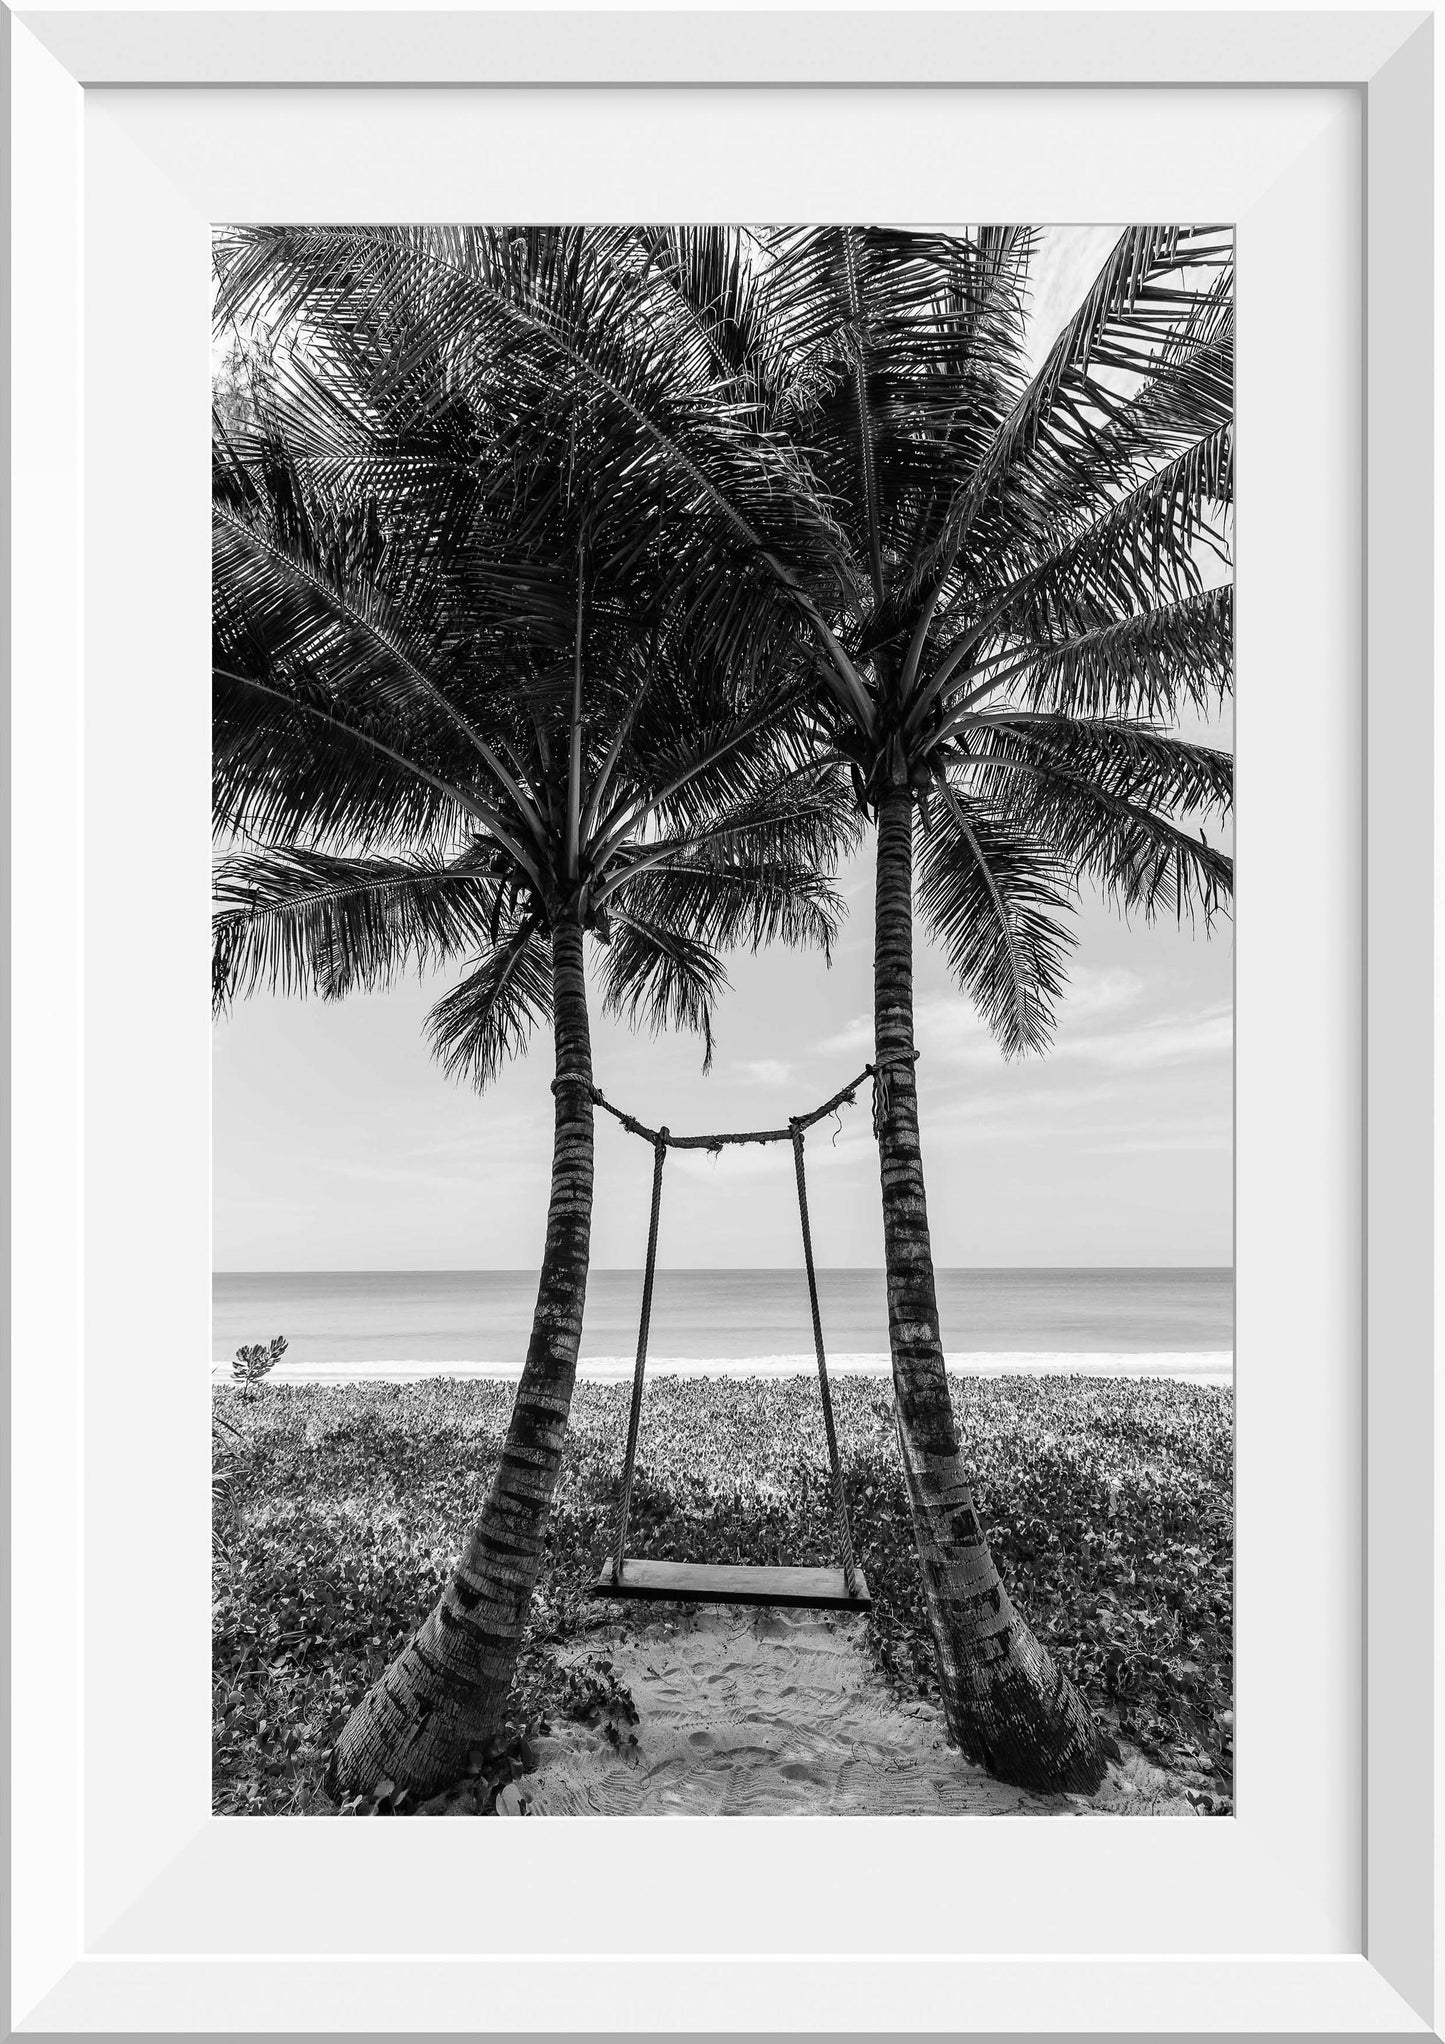
[{"label": "bare sandy patch on the ground beneath the swing", "polygon": [[1181,1784],[1134,1754],[1096,1797],[991,1780],[946,1744],[932,1705],[893,1699],[852,1615],[656,1609],[564,1652],[611,1658],[638,1707],[638,1746],[556,1725],[523,1784],[531,1815],[1196,1815]]}]

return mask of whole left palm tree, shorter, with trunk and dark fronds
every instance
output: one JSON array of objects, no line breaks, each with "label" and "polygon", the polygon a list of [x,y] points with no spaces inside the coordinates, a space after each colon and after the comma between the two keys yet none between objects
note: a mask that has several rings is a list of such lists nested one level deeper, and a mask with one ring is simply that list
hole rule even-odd
[{"label": "whole left palm tree, shorter, with trunk and dark fronds", "polygon": [[[255,253],[237,235],[227,278]],[[268,284],[268,290],[272,288]],[[341,997],[468,959],[431,1014],[484,1085],[554,1032],[552,1196],[499,1470],[437,1605],[345,1725],[337,1780],[427,1793],[497,1723],[558,1478],[587,1290],[593,1065],[607,1008],[703,1034],[719,953],[828,944],[840,779],[797,691],[740,687],[668,607],[630,505],[587,495],[587,423],[525,462],[491,364],[333,309],[215,437],[215,993]],[[505,503],[505,519],[497,505]],[[621,513],[621,515],[619,515]]]}]

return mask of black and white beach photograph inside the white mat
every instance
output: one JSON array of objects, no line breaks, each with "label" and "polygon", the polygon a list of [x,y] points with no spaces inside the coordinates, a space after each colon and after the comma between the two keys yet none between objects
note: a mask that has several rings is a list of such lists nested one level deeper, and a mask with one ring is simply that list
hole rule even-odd
[{"label": "black and white beach photograph inside the white mat", "polygon": [[211,245],[215,1813],[1230,1817],[1232,227]]}]

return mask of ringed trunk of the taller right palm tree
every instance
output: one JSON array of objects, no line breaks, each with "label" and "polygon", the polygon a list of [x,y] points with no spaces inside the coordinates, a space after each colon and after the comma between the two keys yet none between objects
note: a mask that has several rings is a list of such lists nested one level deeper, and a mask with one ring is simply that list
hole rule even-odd
[{"label": "ringed trunk of the taller right palm tree", "polygon": [[1100,1729],[993,1566],[948,1398],[914,1081],[914,797],[879,801],[873,1028],[897,1437],[948,1731],[969,1760],[1036,1791],[1093,1791]]}]

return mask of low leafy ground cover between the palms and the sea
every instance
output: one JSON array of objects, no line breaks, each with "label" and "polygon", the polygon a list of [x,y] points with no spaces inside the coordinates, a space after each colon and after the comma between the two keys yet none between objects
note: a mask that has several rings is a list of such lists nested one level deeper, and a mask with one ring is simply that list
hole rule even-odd
[{"label": "low leafy ground cover between the palms and the sea", "polygon": [[[993,1553],[1040,1639],[1108,1731],[1198,1809],[1232,1807],[1232,1394],[1157,1378],[952,1380]],[[515,1386],[219,1386],[215,1809],[325,1813],[325,1756],[456,1560],[497,1464]],[[936,1699],[887,1380],[840,1376],[834,1408],[869,1576],[867,1645],[899,1694]],[[625,1384],[576,1386],[548,1558],[501,1758],[589,1717],[630,1737],[630,1699],[585,1643],[611,1549]],[[630,1553],[836,1564],[811,1378],[656,1378],[646,1392]],[[615,1607],[613,1607],[615,1615]],[[640,1613],[640,1623],[648,1615]],[[517,1754],[523,1760],[517,1760]]]}]

